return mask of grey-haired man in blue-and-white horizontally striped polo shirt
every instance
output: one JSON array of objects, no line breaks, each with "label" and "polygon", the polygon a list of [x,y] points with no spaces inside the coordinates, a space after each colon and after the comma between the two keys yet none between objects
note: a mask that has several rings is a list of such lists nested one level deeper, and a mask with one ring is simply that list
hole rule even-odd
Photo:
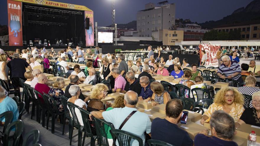
[{"label": "grey-haired man in blue-and-white horizontally striped polo shirt", "polygon": [[241,68],[237,61],[231,61],[228,55],[224,55],[222,58],[222,64],[217,70],[217,75],[220,78],[228,78],[230,80],[237,80],[239,83],[243,82],[241,76]]}]

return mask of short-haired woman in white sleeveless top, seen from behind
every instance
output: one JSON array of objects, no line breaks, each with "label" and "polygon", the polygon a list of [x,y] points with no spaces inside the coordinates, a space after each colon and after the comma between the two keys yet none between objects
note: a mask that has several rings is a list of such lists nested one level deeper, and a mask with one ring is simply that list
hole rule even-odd
[{"label": "short-haired woman in white sleeveless top, seen from behind", "polygon": [[[80,87],[78,85],[71,85],[69,87],[69,94],[71,95],[71,98],[68,99],[68,102],[76,104],[80,108],[87,110],[87,104],[83,100],[79,99]],[[71,111],[69,111],[69,112],[71,114]],[[76,113],[77,118],[79,120],[79,124],[81,126],[83,126],[84,124],[83,124],[82,116],[81,116],[79,109],[75,108],[75,113]]]}]

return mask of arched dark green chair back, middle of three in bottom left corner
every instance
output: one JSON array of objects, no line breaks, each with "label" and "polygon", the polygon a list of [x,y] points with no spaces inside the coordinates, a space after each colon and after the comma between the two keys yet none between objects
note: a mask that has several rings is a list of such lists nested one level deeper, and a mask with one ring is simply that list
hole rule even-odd
[{"label": "arched dark green chair back, middle of three in bottom left corner", "polygon": [[13,146],[18,146],[19,145],[19,140],[20,140],[20,136],[22,135],[22,131],[23,131],[23,122],[22,120],[17,120],[12,122],[11,124],[9,124],[4,132],[4,140],[3,143],[8,143],[9,141],[9,137],[10,137],[10,132],[12,131],[12,127],[15,127],[15,131],[14,131],[14,135],[13,135]]}]

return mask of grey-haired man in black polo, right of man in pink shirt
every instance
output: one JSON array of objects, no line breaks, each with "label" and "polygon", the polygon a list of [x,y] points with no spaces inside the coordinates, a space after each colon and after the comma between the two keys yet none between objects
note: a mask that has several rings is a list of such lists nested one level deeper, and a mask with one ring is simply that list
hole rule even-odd
[{"label": "grey-haired man in black polo, right of man in pink shirt", "polygon": [[124,88],[123,91],[121,91],[121,93],[126,93],[126,91],[134,91],[136,92],[138,95],[141,93],[141,88],[142,86],[140,85],[140,83],[135,79],[134,77],[134,72],[129,71],[126,73],[126,86]]}]

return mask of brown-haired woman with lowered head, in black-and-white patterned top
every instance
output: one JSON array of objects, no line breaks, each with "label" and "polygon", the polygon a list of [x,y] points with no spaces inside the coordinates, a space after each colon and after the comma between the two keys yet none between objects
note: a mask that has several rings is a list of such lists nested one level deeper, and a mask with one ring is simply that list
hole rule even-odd
[{"label": "brown-haired woman with lowered head, in black-and-white patterned top", "polygon": [[[156,101],[159,104],[166,104],[170,100],[170,94],[164,90],[163,85],[160,82],[152,82],[151,90],[153,92],[152,101]],[[152,106],[156,106],[156,102],[152,102]]]}]

